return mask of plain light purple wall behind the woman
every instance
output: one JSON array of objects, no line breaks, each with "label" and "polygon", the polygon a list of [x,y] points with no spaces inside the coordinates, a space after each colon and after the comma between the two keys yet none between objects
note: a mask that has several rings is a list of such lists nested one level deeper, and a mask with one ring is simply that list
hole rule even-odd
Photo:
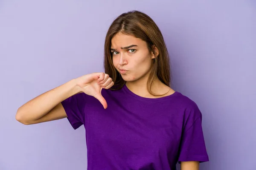
[{"label": "plain light purple wall behind the woman", "polygon": [[203,113],[202,170],[255,170],[256,1],[1,0],[0,170],[86,169],[85,130],[67,119],[15,120],[20,105],[70,79],[103,71],[106,31],[137,9],[160,27],[173,88]]}]

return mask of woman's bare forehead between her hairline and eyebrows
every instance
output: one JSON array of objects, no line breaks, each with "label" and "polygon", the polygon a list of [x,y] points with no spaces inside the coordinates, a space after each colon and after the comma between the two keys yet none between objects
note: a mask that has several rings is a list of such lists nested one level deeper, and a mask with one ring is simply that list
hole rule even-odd
[{"label": "woman's bare forehead between her hairline and eyebrows", "polygon": [[111,48],[121,48],[129,45],[142,46],[145,42],[140,38],[134,37],[133,35],[125,35],[122,33],[116,34],[111,40]]}]

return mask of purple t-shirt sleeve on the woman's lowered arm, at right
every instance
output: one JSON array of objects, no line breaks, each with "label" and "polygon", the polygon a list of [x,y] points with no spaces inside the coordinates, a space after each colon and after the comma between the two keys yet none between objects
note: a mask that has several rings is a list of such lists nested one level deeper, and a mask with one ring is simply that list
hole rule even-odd
[{"label": "purple t-shirt sleeve on the woman's lowered arm, at right", "polygon": [[184,121],[183,133],[180,142],[181,161],[209,161],[202,130],[202,114],[196,104],[187,109],[186,121]]}]

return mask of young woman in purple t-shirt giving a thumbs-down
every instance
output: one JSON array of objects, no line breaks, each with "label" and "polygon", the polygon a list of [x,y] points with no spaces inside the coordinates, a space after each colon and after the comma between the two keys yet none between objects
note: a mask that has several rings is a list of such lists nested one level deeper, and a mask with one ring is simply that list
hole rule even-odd
[{"label": "young woman in purple t-shirt giving a thumbs-down", "polygon": [[[202,115],[170,88],[163,36],[148,15],[121,14],[105,39],[105,72],[72,79],[17,110],[17,121],[84,125],[88,170],[198,170],[208,161]],[[103,107],[102,107],[103,106]]]}]

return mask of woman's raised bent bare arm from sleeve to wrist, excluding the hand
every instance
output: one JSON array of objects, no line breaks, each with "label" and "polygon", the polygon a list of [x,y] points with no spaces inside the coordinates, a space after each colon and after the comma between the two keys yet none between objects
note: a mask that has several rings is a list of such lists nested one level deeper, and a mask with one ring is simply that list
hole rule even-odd
[{"label": "woman's raised bent bare arm from sleeve to wrist, excluding the hand", "polygon": [[81,88],[72,79],[26,102],[18,108],[15,118],[25,125],[63,119],[67,114],[61,102],[79,92]]}]

